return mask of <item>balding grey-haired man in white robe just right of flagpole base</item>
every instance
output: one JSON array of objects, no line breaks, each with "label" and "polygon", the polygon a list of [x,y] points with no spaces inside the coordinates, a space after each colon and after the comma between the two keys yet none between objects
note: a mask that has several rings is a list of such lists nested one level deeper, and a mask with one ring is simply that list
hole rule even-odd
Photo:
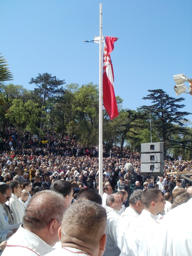
[{"label": "balding grey-haired man in white robe just right of flagpole base", "polygon": [[120,216],[120,210],[122,208],[122,201],[120,196],[113,194],[108,196],[106,200],[107,211],[107,240],[105,245],[104,256],[117,256],[120,254],[120,250],[117,245],[116,239],[116,224]]}]

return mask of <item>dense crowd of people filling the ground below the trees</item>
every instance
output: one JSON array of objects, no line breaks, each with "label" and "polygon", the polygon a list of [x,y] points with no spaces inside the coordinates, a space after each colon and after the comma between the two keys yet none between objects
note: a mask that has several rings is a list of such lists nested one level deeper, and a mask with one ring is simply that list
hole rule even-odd
[{"label": "dense crowd of people filling the ground below the trees", "polygon": [[[101,198],[97,146],[83,147],[75,138],[61,139],[57,134],[45,144],[38,144],[28,132],[18,138],[11,127],[4,135],[5,138],[0,139],[1,250],[6,246],[3,255],[15,254],[15,250],[18,255],[26,255],[30,250],[31,254],[27,255],[42,256],[48,252],[54,255],[55,250],[59,255],[79,251],[104,256],[179,255],[156,252],[156,247],[150,247],[144,234],[151,221],[157,223],[160,219],[157,229],[161,230],[161,222],[171,215],[173,208],[182,211],[179,205],[191,202],[191,176],[186,180],[172,174],[191,172],[191,161],[165,159],[162,175],[154,178],[140,170],[139,152],[126,148],[121,152],[118,147],[111,152],[104,151]],[[71,212],[75,211],[78,214],[73,213],[72,217]],[[81,221],[83,212],[86,212],[83,216],[87,222]],[[97,218],[103,220],[100,225],[94,223]],[[92,228],[88,232],[87,225],[82,227],[82,223],[91,220]],[[80,243],[82,233],[74,233],[73,224],[79,225],[83,234],[87,233],[84,243]],[[58,229],[60,243],[57,243]],[[100,235],[92,230],[100,230]],[[152,234],[156,236],[155,231]],[[91,243],[92,239],[95,244]],[[34,246],[36,243],[38,245]]]}]

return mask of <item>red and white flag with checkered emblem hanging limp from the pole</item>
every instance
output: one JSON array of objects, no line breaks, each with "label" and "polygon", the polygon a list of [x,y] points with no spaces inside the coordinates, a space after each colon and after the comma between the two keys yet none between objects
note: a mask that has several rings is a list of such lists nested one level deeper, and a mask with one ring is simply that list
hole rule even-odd
[{"label": "red and white flag with checkered emblem hanging limp from the pole", "polygon": [[119,115],[114,91],[114,74],[110,53],[114,49],[116,37],[105,36],[103,53],[103,105],[110,117]]}]

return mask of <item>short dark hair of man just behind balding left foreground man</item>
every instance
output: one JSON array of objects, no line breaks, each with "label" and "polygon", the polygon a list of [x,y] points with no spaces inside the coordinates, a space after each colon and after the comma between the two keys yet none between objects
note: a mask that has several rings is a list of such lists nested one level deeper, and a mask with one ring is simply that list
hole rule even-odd
[{"label": "short dark hair of man just behind balding left foreground man", "polygon": [[50,186],[50,190],[58,192],[62,194],[64,197],[71,194],[71,190],[73,189],[73,185],[67,180],[56,180]]}]

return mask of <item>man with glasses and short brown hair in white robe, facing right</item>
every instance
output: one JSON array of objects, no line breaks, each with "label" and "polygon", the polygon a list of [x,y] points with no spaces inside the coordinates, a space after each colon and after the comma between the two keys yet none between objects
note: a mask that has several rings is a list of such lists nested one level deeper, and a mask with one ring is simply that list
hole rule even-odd
[{"label": "man with glasses and short brown hair in white robe, facing right", "polygon": [[123,254],[139,255],[139,245],[142,239],[142,234],[145,232],[149,223],[155,222],[158,219],[157,214],[164,212],[165,200],[161,191],[157,188],[147,188],[143,190],[141,195],[141,202],[144,209],[140,216],[133,220],[130,227],[125,233],[125,244],[122,248]]}]

